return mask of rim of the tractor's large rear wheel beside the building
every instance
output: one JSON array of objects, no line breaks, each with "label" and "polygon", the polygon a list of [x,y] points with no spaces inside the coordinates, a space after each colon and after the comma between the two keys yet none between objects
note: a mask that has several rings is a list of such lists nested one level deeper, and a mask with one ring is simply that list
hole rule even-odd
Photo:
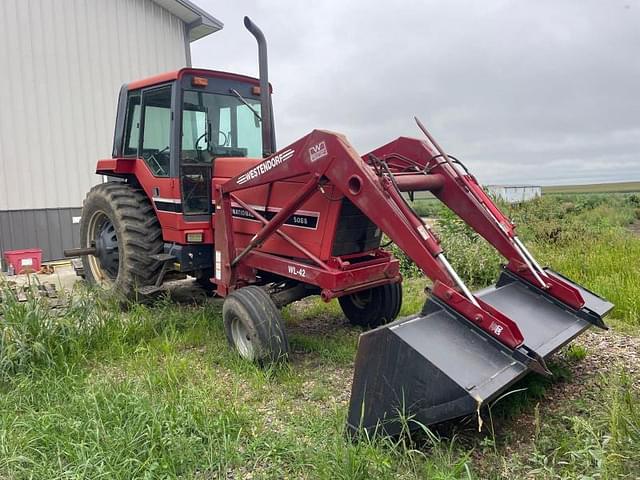
[{"label": "rim of the tractor's large rear wheel beside the building", "polygon": [[89,219],[86,246],[96,249],[95,255],[88,256],[93,278],[103,286],[113,284],[120,268],[118,235],[113,222],[103,211],[95,212]]}]

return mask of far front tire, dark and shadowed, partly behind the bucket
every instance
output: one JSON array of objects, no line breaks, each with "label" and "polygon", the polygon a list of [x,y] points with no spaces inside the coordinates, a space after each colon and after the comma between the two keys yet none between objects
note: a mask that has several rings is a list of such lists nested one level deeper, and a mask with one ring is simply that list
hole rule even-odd
[{"label": "far front tire, dark and shadowed, partly behind the bucket", "polygon": [[376,328],[395,320],[402,306],[402,285],[391,283],[338,298],[352,325]]}]

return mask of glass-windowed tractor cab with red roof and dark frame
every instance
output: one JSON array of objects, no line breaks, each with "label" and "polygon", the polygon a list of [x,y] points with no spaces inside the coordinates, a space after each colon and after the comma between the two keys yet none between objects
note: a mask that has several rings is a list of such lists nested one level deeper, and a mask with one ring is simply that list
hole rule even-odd
[{"label": "glass-windowed tractor cab with red roof and dark frame", "polygon": [[113,157],[140,158],[153,177],[179,179],[183,213],[208,215],[216,158],[238,158],[243,170],[241,158],[275,149],[271,118],[264,135],[263,104],[258,79],[226,72],[185,68],[126,84]]}]

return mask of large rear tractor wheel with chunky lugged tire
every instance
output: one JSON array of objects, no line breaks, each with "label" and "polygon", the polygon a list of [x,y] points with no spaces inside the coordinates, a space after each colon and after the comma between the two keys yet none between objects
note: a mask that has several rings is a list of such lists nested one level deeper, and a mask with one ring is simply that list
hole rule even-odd
[{"label": "large rear tractor wheel with chunky lugged tire", "polygon": [[104,247],[102,255],[86,255],[86,280],[126,300],[140,287],[155,284],[162,264],[150,256],[162,253],[162,229],[146,194],[131,185],[107,182],[93,187],[82,206],[82,247]]}]

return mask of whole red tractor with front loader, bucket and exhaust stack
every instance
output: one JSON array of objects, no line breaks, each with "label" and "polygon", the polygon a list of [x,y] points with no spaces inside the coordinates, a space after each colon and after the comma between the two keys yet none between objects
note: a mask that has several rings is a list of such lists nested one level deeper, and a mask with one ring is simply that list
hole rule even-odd
[{"label": "whole red tractor with front loader, bucket and exhaust stack", "polygon": [[[230,344],[251,361],[289,351],[279,309],[337,298],[371,330],[356,357],[348,425],[394,433],[398,414],[433,424],[475,413],[612,308],[542,268],[475,178],[419,123],[365,155],[314,130],[277,149],[262,32],[260,79],[185,68],[131,82],[118,101],[109,177],[84,202],[79,249],[90,283],[129,299],[178,272],[224,297]],[[428,141],[427,141],[428,140]],[[405,192],[430,191],[506,259],[472,293]],[[396,320],[398,261],[383,234],[432,281],[423,310]]]}]

